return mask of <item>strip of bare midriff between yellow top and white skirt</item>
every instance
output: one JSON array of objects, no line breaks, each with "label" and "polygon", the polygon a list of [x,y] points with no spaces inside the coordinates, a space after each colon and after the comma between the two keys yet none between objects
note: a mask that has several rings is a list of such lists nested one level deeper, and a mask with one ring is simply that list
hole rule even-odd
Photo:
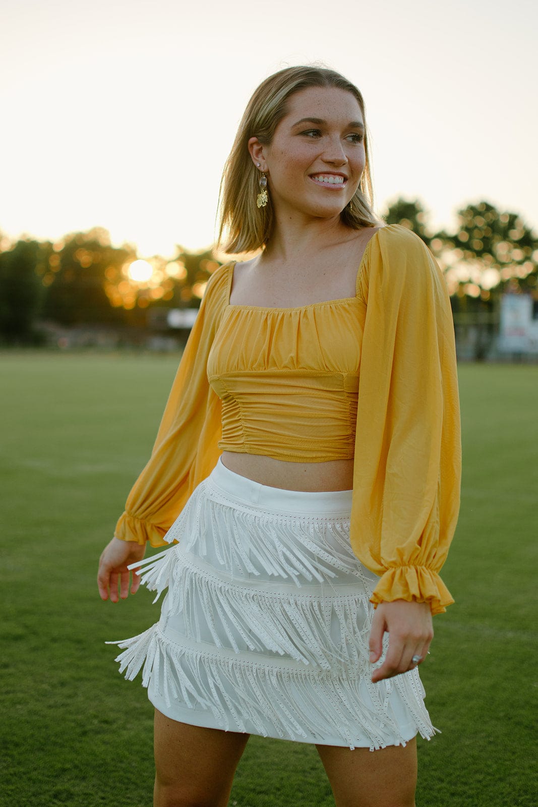
[{"label": "strip of bare midriff between yellow top and white skirt", "polygon": [[223,451],[223,466],[261,485],[286,491],[350,491],[353,487],[353,460],[327,462],[286,462],[261,454]]}]

